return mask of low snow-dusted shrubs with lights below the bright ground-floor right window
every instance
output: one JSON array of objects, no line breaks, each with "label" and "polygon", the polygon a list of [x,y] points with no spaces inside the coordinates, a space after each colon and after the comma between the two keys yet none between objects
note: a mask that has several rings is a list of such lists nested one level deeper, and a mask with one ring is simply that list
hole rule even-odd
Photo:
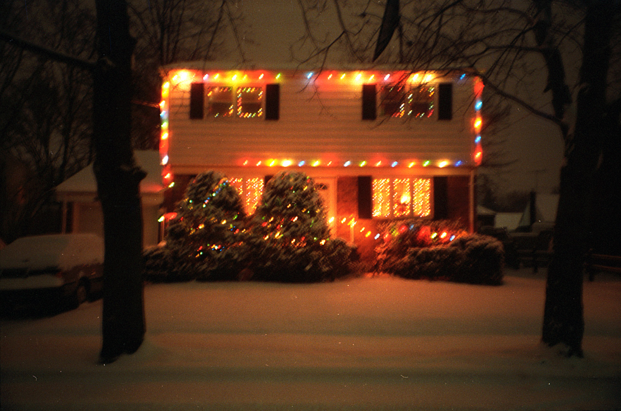
[{"label": "low snow-dusted shrubs with lights below the bright ground-floor right window", "polygon": [[410,279],[501,284],[502,243],[451,221],[392,221],[383,228],[376,270]]}]

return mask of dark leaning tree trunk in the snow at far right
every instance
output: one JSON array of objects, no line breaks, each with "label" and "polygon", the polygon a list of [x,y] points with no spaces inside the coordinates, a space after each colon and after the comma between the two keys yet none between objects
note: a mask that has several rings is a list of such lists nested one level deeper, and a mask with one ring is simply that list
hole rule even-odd
[{"label": "dark leaning tree trunk in the snow at far right", "polygon": [[594,1],[587,7],[576,124],[573,138],[566,140],[554,253],[546,284],[542,341],[548,346],[565,344],[568,356],[582,356],[582,267],[588,246],[594,175],[606,132],[605,90],[614,16],[607,4]]}]

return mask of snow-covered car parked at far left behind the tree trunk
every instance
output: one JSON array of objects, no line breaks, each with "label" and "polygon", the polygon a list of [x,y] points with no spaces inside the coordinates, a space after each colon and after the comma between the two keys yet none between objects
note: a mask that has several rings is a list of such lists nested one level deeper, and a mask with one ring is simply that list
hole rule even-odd
[{"label": "snow-covered car parked at far left behind the tree trunk", "polygon": [[76,308],[101,291],[104,242],[96,234],[16,239],[0,251],[2,308]]}]

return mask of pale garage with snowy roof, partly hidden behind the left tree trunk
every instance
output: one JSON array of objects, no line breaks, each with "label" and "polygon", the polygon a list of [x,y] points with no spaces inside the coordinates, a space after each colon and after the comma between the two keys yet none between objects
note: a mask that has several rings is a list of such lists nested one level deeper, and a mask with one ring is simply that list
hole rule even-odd
[{"label": "pale garage with snowy roof, partly hidden behind the left tree trunk", "polygon": [[[147,172],[140,182],[142,202],[143,246],[152,246],[160,239],[160,207],[164,200],[161,183],[160,155],[155,150],[135,150],[137,164]],[[97,183],[93,164],[56,187],[58,201],[63,204],[63,233],[96,233],[104,235],[101,203],[97,200]]]}]

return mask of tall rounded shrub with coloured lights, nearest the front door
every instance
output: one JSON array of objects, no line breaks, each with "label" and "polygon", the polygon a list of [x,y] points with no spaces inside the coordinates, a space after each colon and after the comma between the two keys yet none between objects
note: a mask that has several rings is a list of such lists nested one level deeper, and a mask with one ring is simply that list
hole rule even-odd
[{"label": "tall rounded shrub with coloured lights, nearest the front door", "polygon": [[322,199],[310,177],[279,172],[266,184],[247,240],[254,279],[319,282],[348,273],[352,248],[330,238]]}]

